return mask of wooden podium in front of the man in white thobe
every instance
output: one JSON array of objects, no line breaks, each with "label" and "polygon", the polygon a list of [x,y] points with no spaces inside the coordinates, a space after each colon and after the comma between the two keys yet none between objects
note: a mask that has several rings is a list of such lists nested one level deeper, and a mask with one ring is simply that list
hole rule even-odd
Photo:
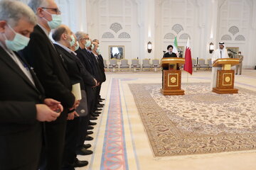
[{"label": "wooden podium in front of the man in white thobe", "polygon": [[213,63],[213,67],[222,67],[217,72],[216,87],[213,92],[217,94],[237,94],[238,89],[234,89],[235,70],[231,67],[239,64],[239,59],[223,58]]}]

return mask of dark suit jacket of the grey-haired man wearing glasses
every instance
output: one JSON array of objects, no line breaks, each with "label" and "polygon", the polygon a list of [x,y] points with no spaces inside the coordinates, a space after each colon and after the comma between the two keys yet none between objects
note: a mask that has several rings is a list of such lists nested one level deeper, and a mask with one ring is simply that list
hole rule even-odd
[{"label": "dark suit jacket of the grey-haired man wearing glasses", "polygon": [[[60,101],[64,108],[71,108],[75,96],[71,93],[72,86],[64,62],[40,26],[35,26],[31,40],[21,54],[34,68],[46,91],[46,97]],[[53,123],[60,121],[66,121],[65,113]]]}]

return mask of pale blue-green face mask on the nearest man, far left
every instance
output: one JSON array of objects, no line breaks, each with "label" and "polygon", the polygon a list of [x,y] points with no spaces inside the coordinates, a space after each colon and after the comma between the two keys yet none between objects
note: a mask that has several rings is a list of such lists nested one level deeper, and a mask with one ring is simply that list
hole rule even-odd
[{"label": "pale blue-green face mask on the nearest man, far left", "polygon": [[[9,28],[11,28],[11,26],[9,26]],[[6,39],[5,40],[6,47],[9,50],[13,50],[16,52],[19,50],[23,50],[23,48],[28,45],[30,38],[27,38],[24,35],[21,35],[19,33],[16,33],[13,28],[11,28],[11,30],[15,33],[14,40],[7,40],[6,35],[4,34],[4,38]]]}]

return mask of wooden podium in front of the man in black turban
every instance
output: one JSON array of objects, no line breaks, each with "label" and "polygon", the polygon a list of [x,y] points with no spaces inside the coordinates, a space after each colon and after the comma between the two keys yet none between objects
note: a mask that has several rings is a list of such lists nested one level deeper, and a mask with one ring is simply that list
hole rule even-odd
[{"label": "wooden podium in front of the man in black turban", "polygon": [[[168,69],[163,70],[163,82],[161,94],[164,95],[183,95],[184,91],[181,89],[181,70],[176,70],[176,65],[183,65],[184,58],[166,57],[161,60],[161,67]],[[173,69],[170,69],[173,67]]]}]

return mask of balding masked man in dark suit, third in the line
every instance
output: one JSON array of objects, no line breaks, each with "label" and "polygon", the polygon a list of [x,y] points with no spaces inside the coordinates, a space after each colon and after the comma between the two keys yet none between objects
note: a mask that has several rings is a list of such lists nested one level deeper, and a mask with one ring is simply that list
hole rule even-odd
[{"label": "balding masked man in dark suit, third in the line", "polygon": [[[85,99],[85,102],[80,102],[80,110],[87,111],[87,96],[85,93],[85,84],[84,79],[86,79],[87,84],[90,86],[95,86],[95,81],[90,75],[85,74],[82,72],[82,64],[80,60],[75,55],[75,52],[71,50],[71,47],[75,45],[76,38],[73,35],[72,31],[68,26],[59,26],[53,31],[53,40],[55,40],[55,48],[57,49],[58,53],[63,56],[63,60],[68,70],[68,76],[70,77],[71,84],[80,84],[81,94],[82,94],[82,101]],[[84,93],[83,93],[84,92]],[[80,113],[80,110],[76,110]],[[79,116],[78,113],[74,111],[73,113],[68,114],[68,125],[66,130],[66,137],[65,137],[65,149],[64,149],[64,157],[63,157],[63,169],[74,169],[74,167],[81,167],[86,166],[88,162],[86,161],[78,161],[76,159],[76,145],[79,137],[79,126],[80,126],[80,119],[83,119],[85,113],[81,115],[81,117],[74,118],[74,115]],[[88,118],[87,118],[88,120]],[[86,127],[82,125],[82,137],[85,137],[85,130]],[[84,142],[84,140],[82,141]],[[84,148],[85,149],[85,148]],[[85,150],[87,154],[92,154],[92,151]]]}]

